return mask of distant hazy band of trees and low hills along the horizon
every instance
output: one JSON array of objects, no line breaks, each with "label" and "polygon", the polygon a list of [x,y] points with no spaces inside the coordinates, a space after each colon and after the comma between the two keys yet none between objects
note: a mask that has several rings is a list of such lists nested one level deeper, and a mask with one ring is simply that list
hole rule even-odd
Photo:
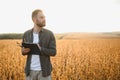
[{"label": "distant hazy band of trees and low hills along the horizon", "polygon": [[[0,34],[0,39],[22,39],[23,33]],[[120,31],[116,32],[68,32],[54,33],[56,39],[82,39],[82,38],[120,38]]]}]

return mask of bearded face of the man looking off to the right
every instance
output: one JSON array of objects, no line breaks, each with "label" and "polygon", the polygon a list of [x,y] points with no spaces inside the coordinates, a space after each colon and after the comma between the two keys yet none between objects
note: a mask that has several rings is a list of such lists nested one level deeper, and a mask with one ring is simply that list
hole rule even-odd
[{"label": "bearded face of the man looking off to the right", "polygon": [[35,24],[39,27],[44,27],[46,25],[45,16],[42,12],[37,14]]}]

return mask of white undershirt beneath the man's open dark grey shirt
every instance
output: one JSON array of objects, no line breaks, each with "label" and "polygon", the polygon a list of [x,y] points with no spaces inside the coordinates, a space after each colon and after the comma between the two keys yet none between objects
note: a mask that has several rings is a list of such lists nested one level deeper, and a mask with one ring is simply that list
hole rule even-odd
[{"label": "white undershirt beneath the man's open dark grey shirt", "polygon": [[[33,33],[33,43],[38,43],[38,42],[39,42],[39,35]],[[39,55],[32,55],[30,70],[41,70]]]}]

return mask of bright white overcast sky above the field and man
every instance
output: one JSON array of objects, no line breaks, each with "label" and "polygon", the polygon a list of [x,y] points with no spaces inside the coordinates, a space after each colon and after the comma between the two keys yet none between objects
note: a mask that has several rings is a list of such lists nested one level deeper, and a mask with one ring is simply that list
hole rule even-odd
[{"label": "bright white overcast sky above the field and man", "polygon": [[35,9],[54,33],[120,31],[120,0],[1,0],[0,33],[31,29]]}]

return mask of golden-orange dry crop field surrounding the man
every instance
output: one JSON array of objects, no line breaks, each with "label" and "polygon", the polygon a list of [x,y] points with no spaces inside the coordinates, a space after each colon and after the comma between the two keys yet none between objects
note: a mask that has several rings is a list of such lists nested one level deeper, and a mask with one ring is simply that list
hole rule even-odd
[{"label": "golden-orange dry crop field surrounding the man", "polygon": [[[0,80],[25,80],[26,56],[16,42],[0,40]],[[52,80],[120,80],[120,39],[57,40]]]}]

